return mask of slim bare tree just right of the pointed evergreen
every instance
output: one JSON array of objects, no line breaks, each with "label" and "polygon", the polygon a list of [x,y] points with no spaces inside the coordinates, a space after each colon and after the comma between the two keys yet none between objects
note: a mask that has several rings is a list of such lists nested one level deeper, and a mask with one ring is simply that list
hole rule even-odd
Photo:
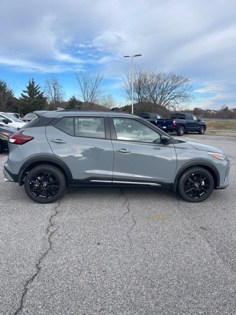
[{"label": "slim bare tree just right of the pointed evergreen", "polygon": [[57,109],[57,107],[59,107],[59,103],[65,98],[65,93],[59,83],[59,79],[57,77],[47,78],[44,83],[44,90],[48,101],[47,109]]}]

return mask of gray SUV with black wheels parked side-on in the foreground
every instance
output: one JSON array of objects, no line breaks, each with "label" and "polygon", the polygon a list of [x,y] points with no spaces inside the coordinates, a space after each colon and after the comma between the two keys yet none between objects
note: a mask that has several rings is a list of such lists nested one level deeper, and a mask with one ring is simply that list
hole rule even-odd
[{"label": "gray SUV with black wheels parked side-on in the foreground", "polygon": [[200,202],[228,186],[224,153],[176,140],[136,115],[116,111],[38,111],[8,139],[6,181],[25,185],[40,203],[58,200],[66,186],[162,187]]}]

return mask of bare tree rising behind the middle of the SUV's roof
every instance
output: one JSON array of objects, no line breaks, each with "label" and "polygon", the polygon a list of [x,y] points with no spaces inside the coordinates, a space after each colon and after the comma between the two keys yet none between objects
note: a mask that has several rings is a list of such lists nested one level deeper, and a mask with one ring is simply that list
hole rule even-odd
[{"label": "bare tree rising behind the middle of the SUV's roof", "polygon": [[79,87],[79,96],[85,102],[91,105],[99,103],[103,97],[102,89],[103,74],[101,72],[92,74],[87,71],[75,71],[75,76]]}]

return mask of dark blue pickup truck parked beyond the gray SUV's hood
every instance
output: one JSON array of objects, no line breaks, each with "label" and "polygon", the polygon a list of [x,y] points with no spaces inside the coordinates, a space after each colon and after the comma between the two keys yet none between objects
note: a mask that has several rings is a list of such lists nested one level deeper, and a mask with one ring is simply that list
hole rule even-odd
[{"label": "dark blue pickup truck parked beyond the gray SUV's hood", "polygon": [[157,127],[166,132],[176,131],[178,136],[182,136],[188,131],[198,131],[204,134],[207,129],[206,123],[197,116],[185,113],[171,114],[169,119],[158,119]]}]

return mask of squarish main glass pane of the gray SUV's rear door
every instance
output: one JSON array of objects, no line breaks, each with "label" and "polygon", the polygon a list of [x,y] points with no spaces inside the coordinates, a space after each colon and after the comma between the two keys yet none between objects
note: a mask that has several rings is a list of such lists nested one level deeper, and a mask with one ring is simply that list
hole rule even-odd
[{"label": "squarish main glass pane of the gray SUV's rear door", "polygon": [[104,118],[75,117],[75,135],[77,137],[105,138]]}]

